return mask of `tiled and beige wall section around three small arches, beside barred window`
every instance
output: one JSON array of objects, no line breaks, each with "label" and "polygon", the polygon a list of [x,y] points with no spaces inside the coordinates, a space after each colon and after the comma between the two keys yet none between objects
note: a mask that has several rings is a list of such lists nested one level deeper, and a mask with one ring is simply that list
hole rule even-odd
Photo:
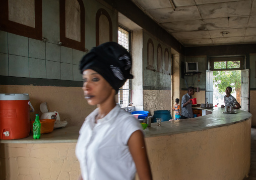
[{"label": "tiled and beige wall section around three small arches, beside barred window", "polygon": [[[154,45],[154,69],[147,69],[148,40],[151,39]],[[171,48],[160,42],[153,35],[143,32],[143,105],[149,115],[154,115],[156,110],[171,110],[171,75],[157,71],[158,44],[162,47],[162,69],[165,69],[164,52],[169,52],[169,74],[171,73]]]}]

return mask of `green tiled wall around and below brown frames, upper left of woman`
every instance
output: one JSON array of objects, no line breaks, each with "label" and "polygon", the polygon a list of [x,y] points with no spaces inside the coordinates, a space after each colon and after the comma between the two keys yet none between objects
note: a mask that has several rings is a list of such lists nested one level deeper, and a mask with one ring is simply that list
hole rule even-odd
[{"label": "green tiled wall around and below brown frames, upper left of woman", "polygon": [[[96,22],[93,17],[101,8],[111,17],[113,41],[116,42],[117,13],[95,0],[84,1],[84,6],[85,48],[95,47]],[[42,1],[42,37],[45,42],[0,31],[0,76],[82,81],[79,62],[86,53],[59,46],[59,31],[59,0]]]}]

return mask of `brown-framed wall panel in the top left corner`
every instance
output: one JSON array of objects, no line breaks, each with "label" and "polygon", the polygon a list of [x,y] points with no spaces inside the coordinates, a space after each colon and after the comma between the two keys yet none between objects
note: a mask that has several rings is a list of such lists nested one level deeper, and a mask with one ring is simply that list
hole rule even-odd
[{"label": "brown-framed wall panel in the top left corner", "polygon": [[0,4],[0,30],[42,40],[42,0],[1,0]]}]

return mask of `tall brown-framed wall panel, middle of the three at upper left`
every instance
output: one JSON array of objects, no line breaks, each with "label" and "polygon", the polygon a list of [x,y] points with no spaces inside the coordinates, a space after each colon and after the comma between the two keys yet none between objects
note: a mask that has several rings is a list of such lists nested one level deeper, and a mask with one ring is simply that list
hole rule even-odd
[{"label": "tall brown-framed wall panel, middle of the three at upper left", "polygon": [[62,46],[85,51],[85,7],[82,0],[59,1]]}]

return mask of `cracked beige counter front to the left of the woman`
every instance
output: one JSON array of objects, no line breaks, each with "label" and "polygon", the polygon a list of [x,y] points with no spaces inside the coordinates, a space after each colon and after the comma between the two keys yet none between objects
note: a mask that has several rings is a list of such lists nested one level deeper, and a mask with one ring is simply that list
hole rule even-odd
[{"label": "cracked beige counter front to the left of the woman", "polygon": [[0,144],[0,179],[76,180],[80,164],[76,143]]}]

